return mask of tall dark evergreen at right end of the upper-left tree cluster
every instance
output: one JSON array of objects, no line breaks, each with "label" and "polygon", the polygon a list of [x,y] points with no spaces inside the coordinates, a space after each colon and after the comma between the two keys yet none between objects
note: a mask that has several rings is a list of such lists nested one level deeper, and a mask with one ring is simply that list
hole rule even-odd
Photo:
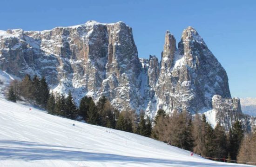
[{"label": "tall dark evergreen at right end of the upper-left tree cluster", "polygon": [[46,78],[42,77],[40,79],[40,105],[42,105],[43,108],[46,108],[48,97],[49,97],[49,87],[48,83],[46,82]]}]

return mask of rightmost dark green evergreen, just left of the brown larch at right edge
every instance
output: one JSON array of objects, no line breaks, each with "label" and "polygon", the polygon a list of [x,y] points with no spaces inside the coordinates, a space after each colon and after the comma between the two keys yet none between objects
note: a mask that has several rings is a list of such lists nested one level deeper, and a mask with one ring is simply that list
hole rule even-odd
[{"label": "rightmost dark green evergreen, just left of the brown larch at right edge", "polygon": [[231,160],[236,161],[241,142],[243,140],[243,129],[239,121],[233,124],[233,127],[229,130],[229,154]]}]

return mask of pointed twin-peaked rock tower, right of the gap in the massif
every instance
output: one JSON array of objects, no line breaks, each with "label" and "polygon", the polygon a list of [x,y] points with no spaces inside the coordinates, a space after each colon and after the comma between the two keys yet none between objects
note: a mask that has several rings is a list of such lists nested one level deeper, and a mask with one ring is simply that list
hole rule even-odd
[{"label": "pointed twin-peaked rock tower, right of the gap in the massif", "polygon": [[157,87],[158,105],[167,110],[200,112],[212,107],[214,95],[231,97],[226,71],[192,27],[183,31],[178,49],[166,33]]}]

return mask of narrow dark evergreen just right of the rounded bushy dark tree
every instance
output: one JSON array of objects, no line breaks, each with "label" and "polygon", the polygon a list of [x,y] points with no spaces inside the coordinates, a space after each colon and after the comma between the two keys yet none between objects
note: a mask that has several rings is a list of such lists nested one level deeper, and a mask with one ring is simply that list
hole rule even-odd
[{"label": "narrow dark evergreen just right of the rounded bushy dark tree", "polygon": [[100,124],[100,116],[99,113],[96,110],[96,106],[93,100],[90,100],[89,103],[89,110],[88,110],[88,119],[87,122],[93,125],[99,125]]}]

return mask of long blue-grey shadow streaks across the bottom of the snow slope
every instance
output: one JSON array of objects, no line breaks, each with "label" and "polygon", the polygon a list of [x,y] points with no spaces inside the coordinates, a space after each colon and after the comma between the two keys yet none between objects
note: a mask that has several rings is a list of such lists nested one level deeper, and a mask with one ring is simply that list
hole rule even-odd
[{"label": "long blue-grey shadow streaks across the bottom of the snow slope", "polygon": [[[6,146],[7,145],[7,146]],[[41,148],[40,148],[41,147]],[[47,145],[36,142],[28,141],[0,141],[0,161],[1,160],[63,160],[63,161],[97,161],[97,162],[110,162],[120,161],[123,164],[137,163],[137,164],[166,164],[175,166],[194,166],[194,167],[230,167],[232,164],[212,164],[194,161],[173,161],[167,159],[155,159],[145,157],[123,156],[118,154],[104,154],[104,153],[91,153],[87,149],[83,151],[68,150],[68,149],[81,149],[72,148],[58,145]]]}]

